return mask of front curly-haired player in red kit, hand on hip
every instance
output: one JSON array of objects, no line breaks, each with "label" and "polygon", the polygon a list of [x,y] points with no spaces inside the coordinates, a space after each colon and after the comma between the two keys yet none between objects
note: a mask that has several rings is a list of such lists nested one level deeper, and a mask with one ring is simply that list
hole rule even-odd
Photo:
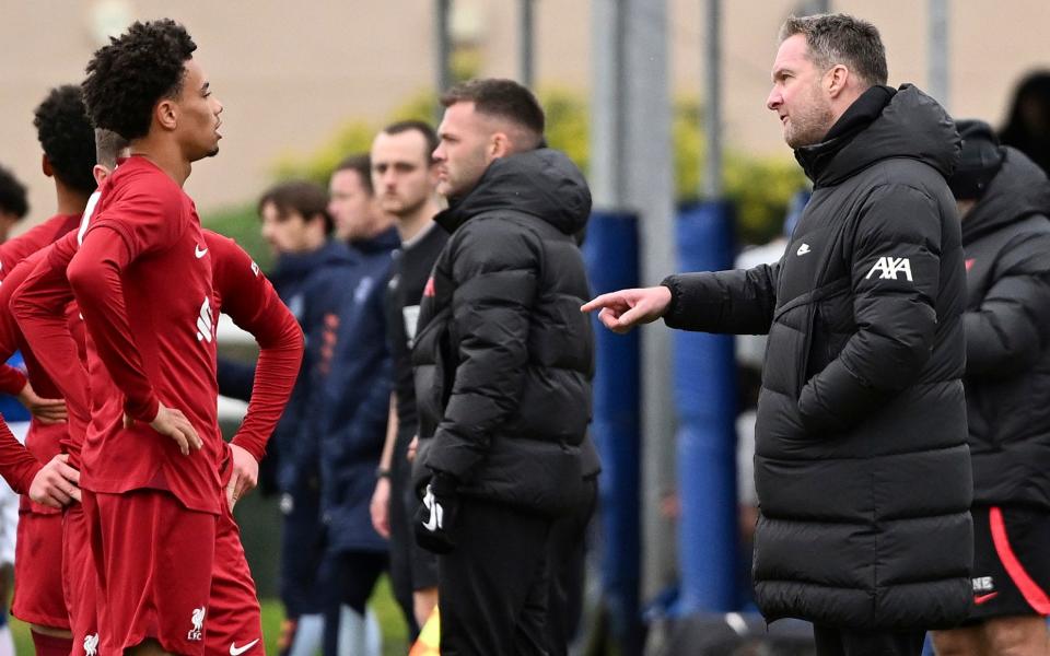
[{"label": "front curly-haired player in red kit, hand on hip", "polygon": [[[182,185],[218,152],[222,105],[173,21],[135,23],[83,83],[132,156],[67,269],[88,330],[81,485],[102,653],[202,654],[222,516],[212,260]],[[103,398],[115,385],[119,395]]]}]

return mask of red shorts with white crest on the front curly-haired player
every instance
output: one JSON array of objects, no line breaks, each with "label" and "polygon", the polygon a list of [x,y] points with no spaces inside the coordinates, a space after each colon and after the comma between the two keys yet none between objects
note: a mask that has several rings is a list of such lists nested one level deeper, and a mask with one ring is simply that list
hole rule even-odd
[{"label": "red shorts with white crest on the front curly-haired player", "polygon": [[172,654],[203,654],[218,517],[162,490],[84,490],[83,500],[98,576],[98,653],[152,639]]}]

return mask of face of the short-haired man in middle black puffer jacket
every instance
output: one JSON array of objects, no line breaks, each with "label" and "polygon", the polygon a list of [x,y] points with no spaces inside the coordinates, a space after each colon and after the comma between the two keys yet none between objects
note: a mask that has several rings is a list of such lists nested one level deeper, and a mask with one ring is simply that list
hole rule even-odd
[{"label": "face of the short-haired man in middle black puffer jacket", "polygon": [[499,154],[497,131],[490,118],[475,112],[472,102],[459,102],[445,109],[438,127],[441,143],[434,150],[439,194],[459,198],[474,189]]}]

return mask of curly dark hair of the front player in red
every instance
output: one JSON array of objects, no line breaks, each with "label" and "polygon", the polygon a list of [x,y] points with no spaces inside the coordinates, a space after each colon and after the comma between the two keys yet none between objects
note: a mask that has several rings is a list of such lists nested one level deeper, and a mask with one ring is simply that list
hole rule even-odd
[{"label": "curly dark hair of the front player in red", "polygon": [[88,62],[84,103],[96,128],[128,140],[150,131],[153,107],[178,95],[197,44],[171,19],[135,22]]}]

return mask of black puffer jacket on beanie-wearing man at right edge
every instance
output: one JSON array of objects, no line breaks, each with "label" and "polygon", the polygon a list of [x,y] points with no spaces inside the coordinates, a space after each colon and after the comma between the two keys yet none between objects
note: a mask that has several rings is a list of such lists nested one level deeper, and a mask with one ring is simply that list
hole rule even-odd
[{"label": "black puffer jacket on beanie-wearing man at right edge", "polygon": [[1050,183],[1020,151],[962,221],[975,501],[1050,509]]}]

